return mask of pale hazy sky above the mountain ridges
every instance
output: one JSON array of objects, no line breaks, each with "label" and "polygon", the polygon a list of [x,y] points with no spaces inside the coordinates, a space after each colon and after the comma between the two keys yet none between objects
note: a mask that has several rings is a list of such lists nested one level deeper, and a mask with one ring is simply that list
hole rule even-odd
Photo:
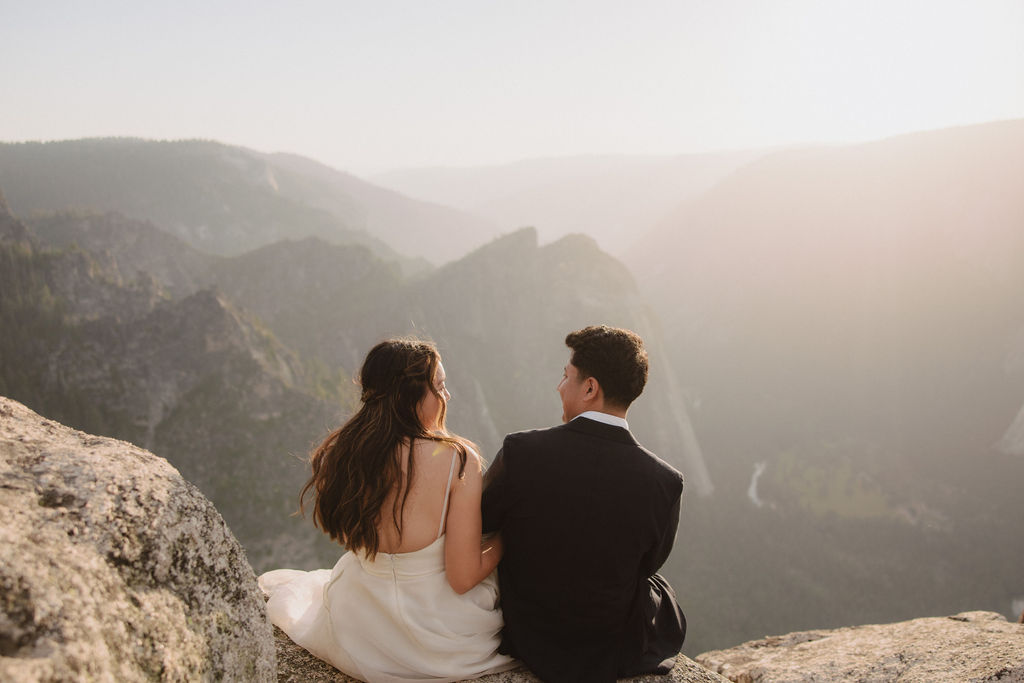
[{"label": "pale hazy sky above the mountain ridges", "polygon": [[1024,0],[0,0],[0,140],[354,172],[1024,118]]}]

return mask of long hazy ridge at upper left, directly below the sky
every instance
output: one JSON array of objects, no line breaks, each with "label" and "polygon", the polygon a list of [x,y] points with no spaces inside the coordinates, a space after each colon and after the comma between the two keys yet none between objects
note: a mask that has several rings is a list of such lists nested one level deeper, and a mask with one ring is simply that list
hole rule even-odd
[{"label": "long hazy ridge at upper left, directly below the sky", "polygon": [[206,140],[0,143],[0,186],[17,215],[117,211],[220,255],[315,236],[418,271],[494,233],[309,160]]}]

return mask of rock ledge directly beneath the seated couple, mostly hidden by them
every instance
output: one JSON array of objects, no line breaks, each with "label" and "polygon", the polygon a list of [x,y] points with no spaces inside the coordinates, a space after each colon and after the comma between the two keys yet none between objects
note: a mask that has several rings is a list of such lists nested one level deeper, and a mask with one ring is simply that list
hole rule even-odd
[{"label": "rock ledge directly beneath the seated couple, mostly hidden by them", "polygon": [[[357,683],[357,679],[345,676],[293,643],[281,629],[274,628],[273,635],[278,644],[279,683]],[[475,680],[480,683],[540,683],[541,679],[526,669],[514,669]],[[682,654],[676,659],[675,669],[666,676],[638,676],[624,680],[634,683],[727,683],[727,679]]]}]

